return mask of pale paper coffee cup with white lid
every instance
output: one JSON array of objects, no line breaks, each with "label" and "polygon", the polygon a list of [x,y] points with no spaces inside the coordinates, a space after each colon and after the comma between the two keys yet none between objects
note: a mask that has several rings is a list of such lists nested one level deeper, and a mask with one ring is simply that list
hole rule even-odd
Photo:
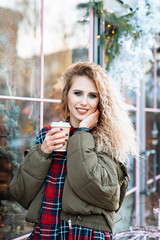
[{"label": "pale paper coffee cup with white lid", "polygon": [[[64,133],[67,133],[68,136],[66,136],[65,138],[68,139],[69,138],[69,132],[70,132],[70,123],[68,122],[51,122],[50,123],[51,128],[62,128]],[[55,151],[66,151],[67,148],[67,141],[65,142],[65,145],[62,148],[59,148]]]}]

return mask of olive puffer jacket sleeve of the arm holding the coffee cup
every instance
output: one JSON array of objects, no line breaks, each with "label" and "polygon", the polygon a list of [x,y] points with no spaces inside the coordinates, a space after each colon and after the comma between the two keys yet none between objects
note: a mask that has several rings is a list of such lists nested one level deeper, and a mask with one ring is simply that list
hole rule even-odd
[{"label": "olive puffer jacket sleeve of the arm holding the coffee cup", "polygon": [[40,144],[33,146],[23,158],[10,183],[9,193],[25,209],[42,187],[51,161],[51,155],[42,152]]}]

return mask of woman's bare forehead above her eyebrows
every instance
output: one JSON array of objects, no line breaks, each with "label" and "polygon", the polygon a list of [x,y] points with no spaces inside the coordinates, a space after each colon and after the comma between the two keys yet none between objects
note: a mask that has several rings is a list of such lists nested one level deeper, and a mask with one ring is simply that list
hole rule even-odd
[{"label": "woman's bare forehead above her eyebrows", "polygon": [[74,76],[72,79],[71,89],[98,92],[94,80],[88,78],[87,76]]}]

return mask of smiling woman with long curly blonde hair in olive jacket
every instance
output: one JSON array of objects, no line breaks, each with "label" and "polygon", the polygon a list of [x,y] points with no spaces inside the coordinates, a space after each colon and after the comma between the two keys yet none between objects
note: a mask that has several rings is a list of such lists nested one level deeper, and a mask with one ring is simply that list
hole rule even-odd
[{"label": "smiling woman with long curly blonde hair in olive jacket", "polygon": [[43,128],[10,193],[36,224],[29,239],[109,240],[127,190],[125,162],[136,156],[135,133],[99,65],[73,64],[63,79],[61,110],[72,125],[67,152],[59,151],[63,129]]}]

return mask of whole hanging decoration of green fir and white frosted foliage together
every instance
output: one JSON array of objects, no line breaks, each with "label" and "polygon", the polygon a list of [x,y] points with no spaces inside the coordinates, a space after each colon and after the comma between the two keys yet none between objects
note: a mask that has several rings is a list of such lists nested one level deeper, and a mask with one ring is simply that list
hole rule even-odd
[{"label": "whole hanging decoration of green fir and white frosted foliage together", "polygon": [[102,33],[97,35],[100,45],[107,57],[105,68],[115,80],[137,91],[147,71],[145,63],[154,61],[153,48],[160,39],[160,1],[138,0],[131,9],[123,0],[126,14],[118,16],[104,8],[103,1],[90,1],[79,4],[78,8],[86,8],[86,16],[93,8],[100,19]]}]

